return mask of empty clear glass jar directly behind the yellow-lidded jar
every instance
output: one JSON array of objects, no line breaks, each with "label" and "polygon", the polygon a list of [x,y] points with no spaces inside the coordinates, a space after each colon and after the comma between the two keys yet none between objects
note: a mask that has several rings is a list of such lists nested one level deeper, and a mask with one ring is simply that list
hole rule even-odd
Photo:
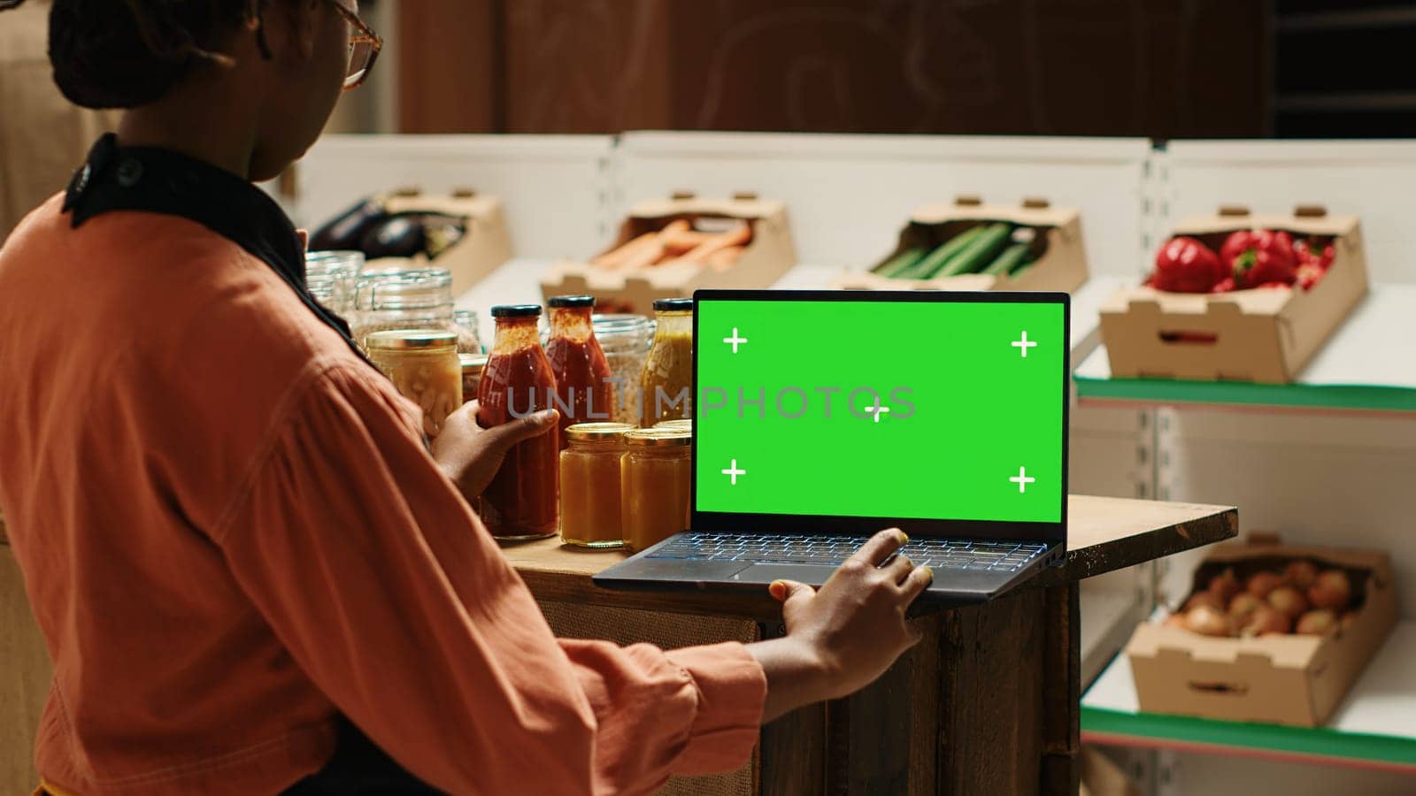
[{"label": "empty clear glass jar directly behind the yellow-lidded jar", "polygon": [[374,331],[453,326],[452,272],[446,268],[368,271],[354,288],[354,340],[368,348]]}]

